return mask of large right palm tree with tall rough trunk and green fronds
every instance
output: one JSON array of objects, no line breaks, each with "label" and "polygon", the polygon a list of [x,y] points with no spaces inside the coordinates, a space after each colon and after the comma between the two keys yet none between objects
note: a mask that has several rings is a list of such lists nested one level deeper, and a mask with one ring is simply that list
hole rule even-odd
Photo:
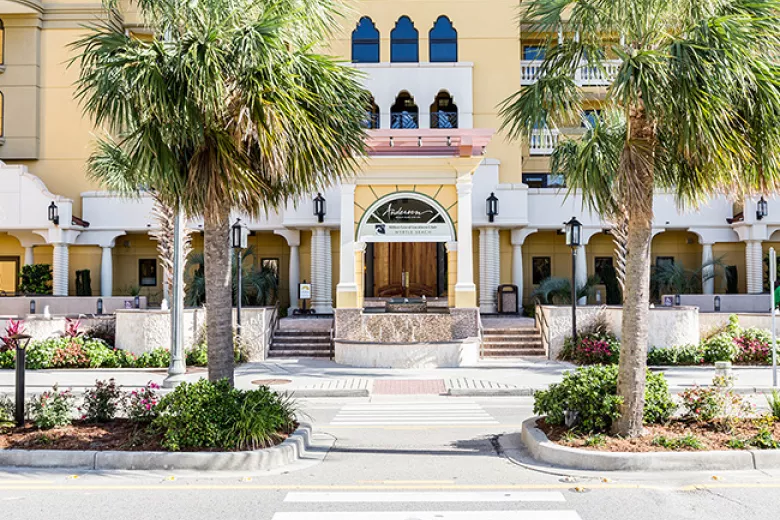
[{"label": "large right palm tree with tall rough trunk and green fronds", "polygon": [[627,225],[616,433],[642,432],[654,189],[695,206],[780,186],[778,12],[779,0],[529,0],[522,12],[550,37],[538,81],[501,107],[511,138],[579,126],[577,70],[606,75],[621,60],[595,124],[551,165],[586,207]]}]

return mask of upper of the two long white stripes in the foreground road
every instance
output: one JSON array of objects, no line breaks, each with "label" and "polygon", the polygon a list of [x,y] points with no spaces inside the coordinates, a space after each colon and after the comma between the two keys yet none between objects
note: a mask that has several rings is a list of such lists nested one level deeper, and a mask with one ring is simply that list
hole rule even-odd
[{"label": "upper of the two long white stripes in the foreground road", "polygon": [[285,502],[565,502],[560,491],[486,493],[287,493]]}]

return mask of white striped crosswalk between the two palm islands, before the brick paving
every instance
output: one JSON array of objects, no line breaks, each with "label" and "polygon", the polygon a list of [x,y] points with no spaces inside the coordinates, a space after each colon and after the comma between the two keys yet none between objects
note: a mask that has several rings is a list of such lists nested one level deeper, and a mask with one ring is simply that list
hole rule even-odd
[{"label": "white striped crosswalk between the two palm islands, before the brick paving", "polygon": [[498,424],[479,404],[458,403],[365,403],[339,410],[332,426],[478,425]]}]

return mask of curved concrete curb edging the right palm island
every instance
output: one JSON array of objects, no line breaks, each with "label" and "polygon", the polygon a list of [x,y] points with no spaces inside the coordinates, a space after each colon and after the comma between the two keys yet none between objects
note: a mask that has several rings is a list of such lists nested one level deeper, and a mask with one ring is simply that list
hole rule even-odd
[{"label": "curved concrete curb edging the right palm island", "polygon": [[590,471],[696,471],[780,468],[780,450],[615,453],[559,446],[536,427],[541,417],[523,422],[521,439],[537,461]]}]

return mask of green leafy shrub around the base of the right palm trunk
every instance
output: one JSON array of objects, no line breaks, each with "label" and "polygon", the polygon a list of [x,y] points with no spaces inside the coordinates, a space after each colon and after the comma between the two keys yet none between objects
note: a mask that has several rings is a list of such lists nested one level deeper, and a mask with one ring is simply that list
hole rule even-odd
[{"label": "green leafy shrub around the base of the right palm trunk", "polygon": [[[576,427],[586,432],[605,432],[620,416],[617,395],[617,366],[580,367],[567,372],[560,383],[534,393],[534,413],[547,416],[547,423],[565,424],[567,410],[578,414]],[[645,388],[646,423],[667,420],[675,405],[663,374],[647,372]]]}]

